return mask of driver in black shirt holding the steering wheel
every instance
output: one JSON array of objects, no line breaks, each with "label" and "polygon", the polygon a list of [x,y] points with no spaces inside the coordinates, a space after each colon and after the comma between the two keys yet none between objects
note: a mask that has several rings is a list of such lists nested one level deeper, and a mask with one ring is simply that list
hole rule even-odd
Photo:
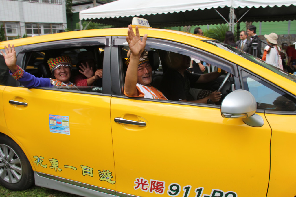
[{"label": "driver in black shirt holding the steering wheel", "polygon": [[190,57],[180,53],[170,52],[171,65],[163,74],[160,90],[168,100],[218,103],[221,92],[194,88],[195,83],[207,83],[222,75],[215,71],[207,74],[194,74],[187,71],[190,66]]}]

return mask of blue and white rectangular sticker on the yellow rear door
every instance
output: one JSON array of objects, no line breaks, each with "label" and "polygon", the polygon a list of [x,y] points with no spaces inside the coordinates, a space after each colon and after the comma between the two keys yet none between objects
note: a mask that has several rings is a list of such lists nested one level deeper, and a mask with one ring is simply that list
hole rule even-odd
[{"label": "blue and white rectangular sticker on the yellow rear door", "polygon": [[49,115],[49,131],[70,135],[69,116]]}]

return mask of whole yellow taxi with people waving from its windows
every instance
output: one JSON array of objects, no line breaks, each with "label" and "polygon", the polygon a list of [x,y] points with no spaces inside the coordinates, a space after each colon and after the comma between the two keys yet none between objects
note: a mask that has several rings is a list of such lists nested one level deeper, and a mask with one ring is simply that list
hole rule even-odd
[{"label": "whole yellow taxi with people waving from its windows", "polygon": [[85,50],[103,69],[102,87],[28,89],[0,53],[1,185],[104,197],[296,196],[294,75],[217,40],[141,27],[154,51],[153,86],[161,87],[171,52],[228,74],[202,84],[222,92],[216,105],[129,98],[127,30],[0,42],[2,51],[15,45],[17,65],[36,77],[50,77],[40,69],[50,57],[69,55],[76,64]]}]

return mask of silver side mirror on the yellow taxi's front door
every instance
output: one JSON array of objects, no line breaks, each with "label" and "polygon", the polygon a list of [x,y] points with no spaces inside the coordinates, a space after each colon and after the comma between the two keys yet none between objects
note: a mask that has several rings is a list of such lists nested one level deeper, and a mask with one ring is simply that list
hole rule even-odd
[{"label": "silver side mirror on the yellow taxi's front door", "polygon": [[256,110],[255,97],[243,89],[229,93],[221,103],[223,118],[242,118],[249,126],[263,126],[264,120],[260,115],[255,114]]}]

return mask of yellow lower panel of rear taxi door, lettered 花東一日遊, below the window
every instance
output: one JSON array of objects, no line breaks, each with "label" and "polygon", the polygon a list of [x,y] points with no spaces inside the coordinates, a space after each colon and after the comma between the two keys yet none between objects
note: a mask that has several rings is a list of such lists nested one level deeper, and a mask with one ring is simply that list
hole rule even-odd
[{"label": "yellow lower panel of rear taxi door, lettered \u82b1\u6771\u4e00\u65e5\u904a, below the window", "polygon": [[[105,115],[110,111],[110,97],[25,87],[6,87],[3,96],[4,100],[28,103],[28,106],[7,103],[4,113],[7,128],[27,147],[35,171],[115,190],[110,116]],[[41,104],[45,104],[42,110]],[[29,116],[30,121],[20,119],[16,123],[17,116]],[[62,124],[68,123],[65,126],[68,132],[54,126],[49,128],[49,122],[58,118],[54,116],[63,116]],[[95,178],[99,177],[96,176],[99,170],[112,172],[113,184]]]}]

